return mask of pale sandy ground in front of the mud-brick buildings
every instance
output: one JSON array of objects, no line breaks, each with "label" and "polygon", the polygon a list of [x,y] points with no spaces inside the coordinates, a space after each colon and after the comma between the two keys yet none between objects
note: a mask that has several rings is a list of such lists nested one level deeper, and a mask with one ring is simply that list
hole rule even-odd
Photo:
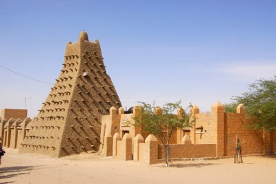
[{"label": "pale sandy ground in front of the mud-brick buildings", "polygon": [[276,183],[276,157],[248,156],[146,165],[97,154],[52,158],[6,149],[0,183]]}]

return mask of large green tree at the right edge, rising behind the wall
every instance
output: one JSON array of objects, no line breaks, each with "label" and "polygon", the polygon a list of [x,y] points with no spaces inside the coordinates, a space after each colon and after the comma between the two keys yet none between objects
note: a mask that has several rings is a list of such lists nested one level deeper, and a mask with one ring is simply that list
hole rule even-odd
[{"label": "large green tree at the right edge, rising behind the wall", "polygon": [[234,98],[246,107],[253,129],[276,130],[276,75],[249,85],[249,91]]}]

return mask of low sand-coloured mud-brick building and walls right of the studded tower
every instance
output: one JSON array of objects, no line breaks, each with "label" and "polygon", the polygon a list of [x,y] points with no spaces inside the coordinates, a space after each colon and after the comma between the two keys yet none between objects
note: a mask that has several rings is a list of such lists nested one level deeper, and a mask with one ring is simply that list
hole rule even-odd
[{"label": "low sand-coloured mud-brick building and walls right of the studded tower", "polygon": [[[172,136],[171,158],[222,158],[234,156],[236,138],[242,140],[242,154],[263,155],[276,153],[276,134],[267,131],[253,131],[248,128],[246,109],[242,104],[236,113],[224,112],[219,103],[213,104],[210,113],[199,113],[193,107],[195,123],[190,129],[179,129]],[[101,118],[101,151],[104,156],[124,160],[140,160],[146,163],[159,163],[164,160],[164,147],[154,136],[143,133],[133,126],[133,113],[124,114],[122,108],[112,107],[110,115]],[[128,123],[126,123],[128,122]]]}]

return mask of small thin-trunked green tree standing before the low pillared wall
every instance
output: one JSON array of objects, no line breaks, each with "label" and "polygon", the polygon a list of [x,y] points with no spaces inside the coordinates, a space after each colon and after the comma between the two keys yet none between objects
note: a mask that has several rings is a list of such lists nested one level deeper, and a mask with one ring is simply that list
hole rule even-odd
[{"label": "small thin-trunked green tree standing before the low pillared wall", "polygon": [[[157,136],[164,146],[165,163],[169,166],[170,160],[170,139],[177,129],[190,127],[193,123],[191,120],[191,105],[184,110],[180,104],[166,103],[163,108],[155,107],[155,103],[147,104],[139,102],[142,105],[138,116],[134,118],[135,126],[142,127],[142,131]],[[177,115],[175,114],[177,112]]]}]

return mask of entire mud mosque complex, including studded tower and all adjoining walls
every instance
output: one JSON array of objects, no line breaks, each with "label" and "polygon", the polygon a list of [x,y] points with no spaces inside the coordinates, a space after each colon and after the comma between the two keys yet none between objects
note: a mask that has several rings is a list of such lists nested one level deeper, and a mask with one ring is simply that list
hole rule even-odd
[{"label": "entire mud mosque complex, including studded tower and all adjoining walls", "polygon": [[[121,107],[97,39],[89,42],[88,34],[81,32],[77,43],[66,45],[62,65],[37,117],[28,118],[23,109],[2,109],[3,147],[54,157],[98,152],[148,164],[164,160],[161,142],[131,123],[139,108],[125,111]],[[244,155],[276,153],[276,133],[248,129],[242,104],[236,113],[224,112],[219,102],[210,113],[200,113],[196,105],[192,113],[196,118],[193,127],[179,129],[172,136],[171,158],[233,156],[237,134]]]}]

